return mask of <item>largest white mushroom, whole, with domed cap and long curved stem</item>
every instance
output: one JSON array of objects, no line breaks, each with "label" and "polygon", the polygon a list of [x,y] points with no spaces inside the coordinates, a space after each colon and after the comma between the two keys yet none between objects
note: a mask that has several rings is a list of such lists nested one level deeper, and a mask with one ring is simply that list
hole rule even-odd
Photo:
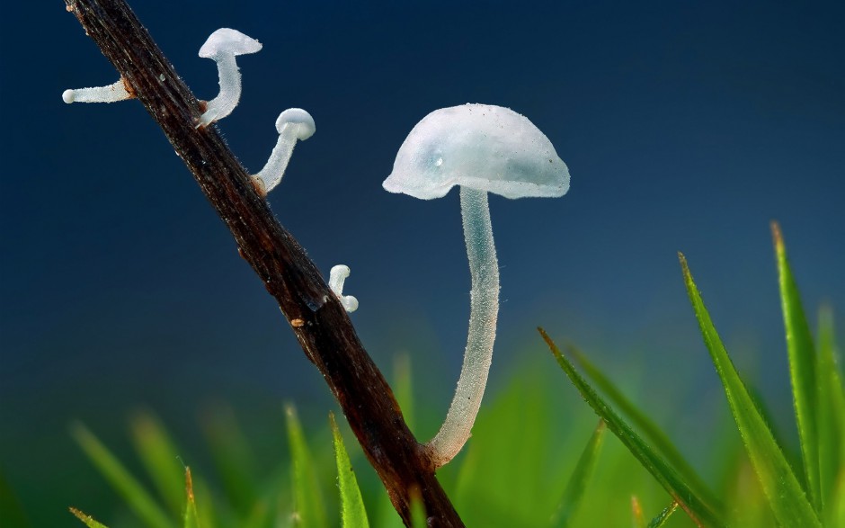
[{"label": "largest white mushroom, whole, with domed cap and long curved stem", "polygon": [[460,186],[460,207],[472,275],[467,348],[458,387],[440,432],[424,446],[435,467],[464,446],[484,396],[499,311],[499,267],[487,192],[506,198],[558,197],[569,170],[547,137],[524,116],[501,106],[465,104],[431,112],[417,123],[383,186],[430,200]]}]

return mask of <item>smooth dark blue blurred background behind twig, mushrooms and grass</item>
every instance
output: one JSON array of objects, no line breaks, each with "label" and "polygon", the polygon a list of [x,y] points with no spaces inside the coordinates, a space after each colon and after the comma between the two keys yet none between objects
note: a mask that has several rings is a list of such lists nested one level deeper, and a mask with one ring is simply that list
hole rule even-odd
[{"label": "smooth dark blue blurred background behind twig, mushrooms and grass", "polygon": [[[200,98],[218,91],[197,57],[211,31],[262,41],[239,59],[243,98],[218,123],[251,171],[279,112],[315,117],[271,207],[325,273],[351,266],[352,320],[379,365],[409,354],[434,416],[421,435],[445,414],[465,339],[458,196],[416,201],[381,182],[417,121],[461,103],[525,114],[572,173],[562,199],[491,199],[493,395],[522,362],[552,368],[542,325],[630,386],[696,459],[725,404],[681,250],[734,361],[793,434],[769,220],[807,308],[832,304],[841,328],[845,4],[132,4]],[[10,3],[0,40],[0,471],[33,524],[76,525],[66,506],[116,501],[70,440],[73,420],[118,451],[139,406],[188,446],[221,402],[256,443],[283,436],[285,400],[324,423],[324,381],[141,105],[62,103],[68,87],[117,78],[73,15],[58,0]]]}]

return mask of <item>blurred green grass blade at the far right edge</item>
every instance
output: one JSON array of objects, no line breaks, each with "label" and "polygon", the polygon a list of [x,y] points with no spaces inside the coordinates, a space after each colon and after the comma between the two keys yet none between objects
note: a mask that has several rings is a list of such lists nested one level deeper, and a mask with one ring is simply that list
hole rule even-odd
[{"label": "blurred green grass blade at the far right edge", "polygon": [[818,336],[816,425],[819,430],[819,485],[823,510],[826,510],[834,497],[838,473],[845,464],[845,397],[834,353],[830,308],[819,310]]}]

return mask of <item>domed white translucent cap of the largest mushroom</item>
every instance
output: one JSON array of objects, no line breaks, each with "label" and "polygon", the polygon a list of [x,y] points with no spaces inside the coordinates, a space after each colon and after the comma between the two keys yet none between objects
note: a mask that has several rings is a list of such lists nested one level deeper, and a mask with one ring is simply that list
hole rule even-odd
[{"label": "domed white translucent cap of the largest mushroom", "polygon": [[569,169],[551,141],[523,115],[489,104],[435,110],[411,130],[382,186],[431,200],[454,185],[506,198],[557,197]]}]

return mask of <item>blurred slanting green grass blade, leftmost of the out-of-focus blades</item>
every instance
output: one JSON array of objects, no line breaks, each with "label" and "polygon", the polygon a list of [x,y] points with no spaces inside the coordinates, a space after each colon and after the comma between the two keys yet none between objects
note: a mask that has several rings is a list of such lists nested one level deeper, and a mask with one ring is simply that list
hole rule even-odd
[{"label": "blurred slanting green grass blade, leftmost of the out-of-focus blades", "polygon": [[129,470],[84,425],[74,425],[71,433],[88,459],[144,524],[150,528],[170,528],[174,525],[147,489],[141,486]]}]

